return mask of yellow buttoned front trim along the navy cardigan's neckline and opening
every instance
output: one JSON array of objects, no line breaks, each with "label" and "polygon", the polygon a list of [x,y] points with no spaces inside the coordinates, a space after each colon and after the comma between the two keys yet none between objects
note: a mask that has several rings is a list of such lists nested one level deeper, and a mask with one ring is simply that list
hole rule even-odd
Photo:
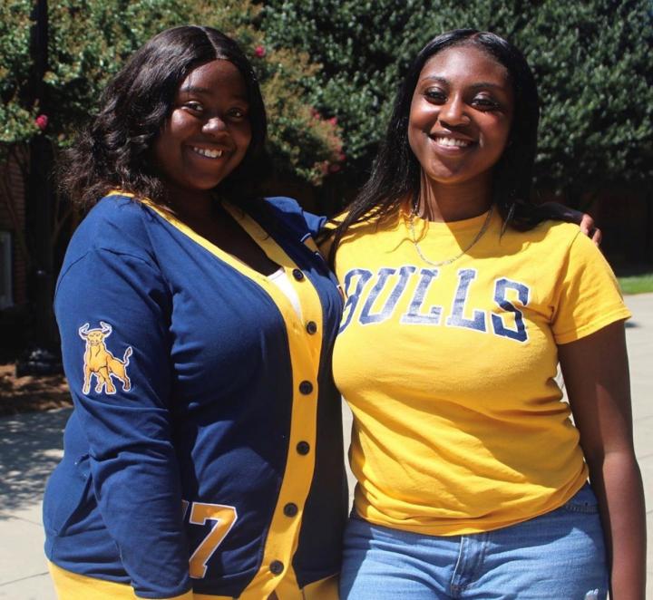
[{"label": "yellow buttoned front trim along the navy cardigan's neckline and opening", "polygon": [[[123,195],[134,198],[132,194],[123,193],[119,190],[112,191],[109,195]],[[278,246],[268,232],[258,225],[257,221],[250,218],[249,215],[240,211],[238,208],[229,205],[229,203],[223,203],[223,207],[229,211],[231,217],[238,221],[240,227],[243,227],[247,231],[249,236],[263,249],[270,260],[282,266],[288,274],[288,280],[297,292],[301,305],[301,320],[298,318],[288,297],[267,276],[258,273],[255,269],[242,263],[238,258],[231,256],[228,252],[212,244],[205,237],[201,237],[193,229],[181,222],[180,219],[176,218],[171,211],[161,208],[148,198],[137,199],[151,208],[161,218],[168,221],[173,227],[179,229],[181,233],[190,237],[201,247],[206,248],[211,254],[218,256],[220,260],[235,268],[243,276],[248,276],[260,285],[278,306],[278,310],[284,319],[288,332],[288,350],[293,373],[293,404],[290,422],[290,439],[288,440],[288,460],[278,495],[277,506],[275,507],[268,529],[268,539],[264,547],[260,569],[248,585],[248,588],[240,595],[240,599],[261,600],[261,598],[267,598],[278,587],[286,588],[285,595],[279,595],[280,600],[285,600],[286,597],[294,598],[294,595],[288,596],[288,590],[296,589],[297,593],[300,592],[298,591],[297,582],[292,573],[291,563],[297,550],[304,504],[307,500],[308,490],[310,489],[315,470],[318,395],[317,373],[319,371],[323,331],[322,305],[317,295],[317,290],[311,285],[307,276],[297,280],[293,276],[293,272],[298,269],[297,264],[288,256],[284,249]],[[308,321],[313,321],[317,324],[317,334],[307,333],[305,324]],[[307,394],[301,393],[299,391],[300,382],[310,382],[313,386],[312,391]],[[311,449],[308,455],[300,455],[295,450],[299,441],[308,442]],[[297,513],[292,517],[284,514],[284,507],[288,503],[297,505]],[[283,565],[283,570],[277,574],[273,574],[270,570],[273,562],[280,562]],[[294,583],[290,583],[291,581]],[[194,597],[198,600],[202,598],[214,600],[220,596],[195,595]],[[302,598],[302,600],[308,597],[304,595],[297,596],[297,598]],[[322,600],[322,596],[318,597],[316,595],[313,597],[317,600]],[[324,597],[326,600],[330,598],[330,596]]]}]

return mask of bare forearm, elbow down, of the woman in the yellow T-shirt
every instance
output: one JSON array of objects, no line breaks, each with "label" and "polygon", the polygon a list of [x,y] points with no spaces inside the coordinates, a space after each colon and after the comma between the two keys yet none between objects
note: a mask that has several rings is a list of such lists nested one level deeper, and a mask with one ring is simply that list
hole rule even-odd
[{"label": "bare forearm, elbow down, of the woman in the yellow T-shirt", "polygon": [[603,524],[612,600],[644,600],[646,595],[646,511],[637,460],[620,450],[588,458],[590,480]]}]

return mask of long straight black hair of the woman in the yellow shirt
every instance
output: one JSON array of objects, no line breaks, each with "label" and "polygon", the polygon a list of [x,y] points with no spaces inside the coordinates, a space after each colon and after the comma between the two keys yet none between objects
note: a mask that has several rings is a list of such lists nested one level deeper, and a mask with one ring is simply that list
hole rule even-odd
[{"label": "long straight black hair of the woman in the yellow shirt", "polygon": [[[408,120],[414,89],[424,64],[453,46],[469,45],[489,53],[508,71],[514,94],[512,127],[501,159],[492,168],[492,201],[512,227],[528,229],[542,220],[531,203],[532,173],[537,151],[540,102],[531,68],[521,52],[496,34],[456,29],[434,37],[417,54],[395,97],[385,139],[376,155],[370,179],[347,208],[346,217],[331,230],[330,257],[348,227],[377,220],[399,209],[405,198],[420,191],[421,167],[408,143]],[[328,235],[328,234],[327,234]]]}]

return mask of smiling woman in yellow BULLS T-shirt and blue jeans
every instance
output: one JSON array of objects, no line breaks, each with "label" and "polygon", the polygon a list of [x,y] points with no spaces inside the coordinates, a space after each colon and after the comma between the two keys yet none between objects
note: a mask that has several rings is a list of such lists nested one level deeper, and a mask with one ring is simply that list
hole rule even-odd
[{"label": "smiling woman in yellow BULLS T-shirt and blue jeans", "polygon": [[531,203],[538,119],[512,44],[437,36],[335,229],[341,598],[644,598],[629,311],[590,239]]}]

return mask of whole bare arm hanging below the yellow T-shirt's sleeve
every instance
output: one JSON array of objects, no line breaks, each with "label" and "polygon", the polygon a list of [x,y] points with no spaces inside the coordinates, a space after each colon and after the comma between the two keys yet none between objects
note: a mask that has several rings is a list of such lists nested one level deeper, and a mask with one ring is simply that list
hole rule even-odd
[{"label": "whole bare arm hanging below the yellow T-shirt's sleeve", "polygon": [[632,438],[623,324],[558,348],[574,421],[590,468],[610,567],[612,600],[644,600],[646,513]]}]

